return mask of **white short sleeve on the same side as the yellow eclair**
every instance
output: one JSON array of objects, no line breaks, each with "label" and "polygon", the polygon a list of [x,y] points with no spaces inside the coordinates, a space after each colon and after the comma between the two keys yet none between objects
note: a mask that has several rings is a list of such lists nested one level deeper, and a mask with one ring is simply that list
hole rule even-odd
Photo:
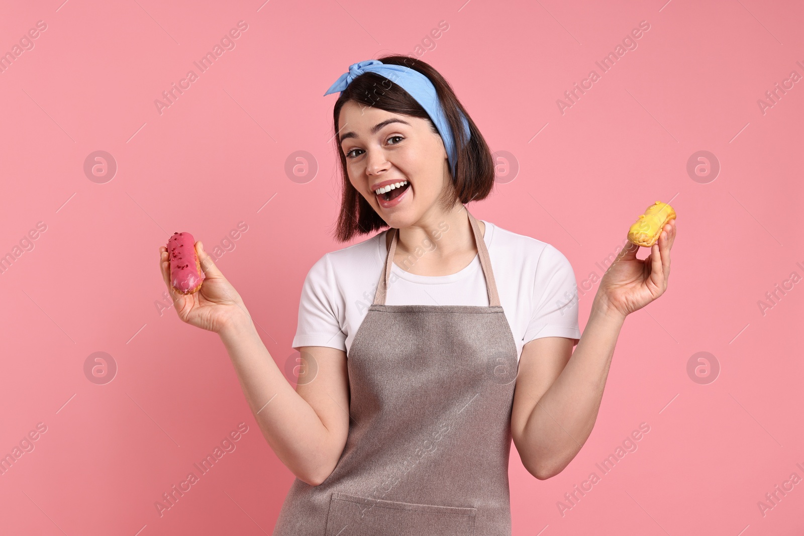
[{"label": "white short sleeve on the same side as the yellow eclair", "polygon": [[531,302],[531,321],[523,342],[542,337],[580,339],[578,291],[572,264],[563,253],[548,244],[536,264]]}]

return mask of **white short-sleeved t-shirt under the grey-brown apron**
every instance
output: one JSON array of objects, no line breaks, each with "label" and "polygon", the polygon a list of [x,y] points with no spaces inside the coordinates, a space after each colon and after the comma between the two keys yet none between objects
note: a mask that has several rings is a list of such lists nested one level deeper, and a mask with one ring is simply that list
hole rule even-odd
[{"label": "white short-sleeved t-shirt under the grey-brown apron", "polygon": [[[551,244],[486,222],[486,248],[511,326],[517,358],[525,343],[541,337],[580,339],[575,273]],[[349,348],[379,284],[388,230],[313,264],[301,289],[293,348]],[[431,247],[432,248],[432,247]],[[425,254],[426,255],[426,254]],[[386,305],[489,305],[480,257],[449,276],[420,276],[392,264]]]}]

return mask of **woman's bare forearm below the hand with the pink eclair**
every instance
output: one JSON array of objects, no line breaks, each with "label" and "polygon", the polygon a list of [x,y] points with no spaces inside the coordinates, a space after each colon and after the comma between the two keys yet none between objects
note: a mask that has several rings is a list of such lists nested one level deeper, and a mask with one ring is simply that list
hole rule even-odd
[{"label": "woman's bare forearm below the hand with the pink eclair", "polygon": [[237,317],[219,335],[273,452],[299,479],[317,484],[340,456],[318,414],[285,379],[250,317]]}]

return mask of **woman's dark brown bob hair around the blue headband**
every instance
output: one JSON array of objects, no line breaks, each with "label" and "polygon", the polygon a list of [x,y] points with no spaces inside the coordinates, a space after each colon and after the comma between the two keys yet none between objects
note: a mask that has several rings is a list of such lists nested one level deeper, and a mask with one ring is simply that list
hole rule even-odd
[{"label": "woman's dark brown bob hair around the blue headband", "polygon": [[[412,68],[427,76],[436,88],[438,99],[444,108],[444,115],[449,128],[452,129],[453,138],[457,148],[457,158],[455,170],[453,170],[452,187],[445,190],[445,195],[441,198],[441,207],[449,211],[457,201],[469,203],[473,200],[486,198],[494,186],[494,159],[491,157],[489,146],[483,139],[478,127],[466,109],[457,100],[449,83],[428,63],[408,55],[386,55],[380,57],[383,63],[403,65]],[[349,181],[347,172],[347,158],[341,150],[340,136],[337,135],[338,116],[340,115],[343,104],[354,100],[364,106],[373,106],[392,113],[399,113],[411,117],[420,117],[430,120],[425,108],[422,108],[412,96],[399,85],[394,84],[384,76],[375,72],[364,72],[357,76],[355,80],[338,96],[335,101],[333,115],[334,125],[334,144],[335,150],[341,158],[341,173],[343,178],[343,194],[341,197],[341,211],[338,215],[338,225],[335,229],[335,238],[341,242],[352,239],[355,235],[368,234],[388,227],[374,207],[366,201]],[[463,139],[463,129],[458,111],[464,113],[469,122],[470,139]],[[433,133],[438,133],[438,129],[430,122]],[[456,134],[457,133],[457,134]]]}]

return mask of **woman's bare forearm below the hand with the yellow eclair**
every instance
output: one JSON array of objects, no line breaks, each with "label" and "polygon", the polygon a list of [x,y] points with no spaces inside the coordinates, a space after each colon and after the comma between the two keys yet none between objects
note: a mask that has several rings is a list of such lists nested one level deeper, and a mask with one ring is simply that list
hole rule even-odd
[{"label": "woman's bare forearm below the hand with the yellow eclair", "polygon": [[560,473],[592,433],[624,321],[596,297],[567,366],[531,411],[523,440],[539,460],[540,478]]}]

